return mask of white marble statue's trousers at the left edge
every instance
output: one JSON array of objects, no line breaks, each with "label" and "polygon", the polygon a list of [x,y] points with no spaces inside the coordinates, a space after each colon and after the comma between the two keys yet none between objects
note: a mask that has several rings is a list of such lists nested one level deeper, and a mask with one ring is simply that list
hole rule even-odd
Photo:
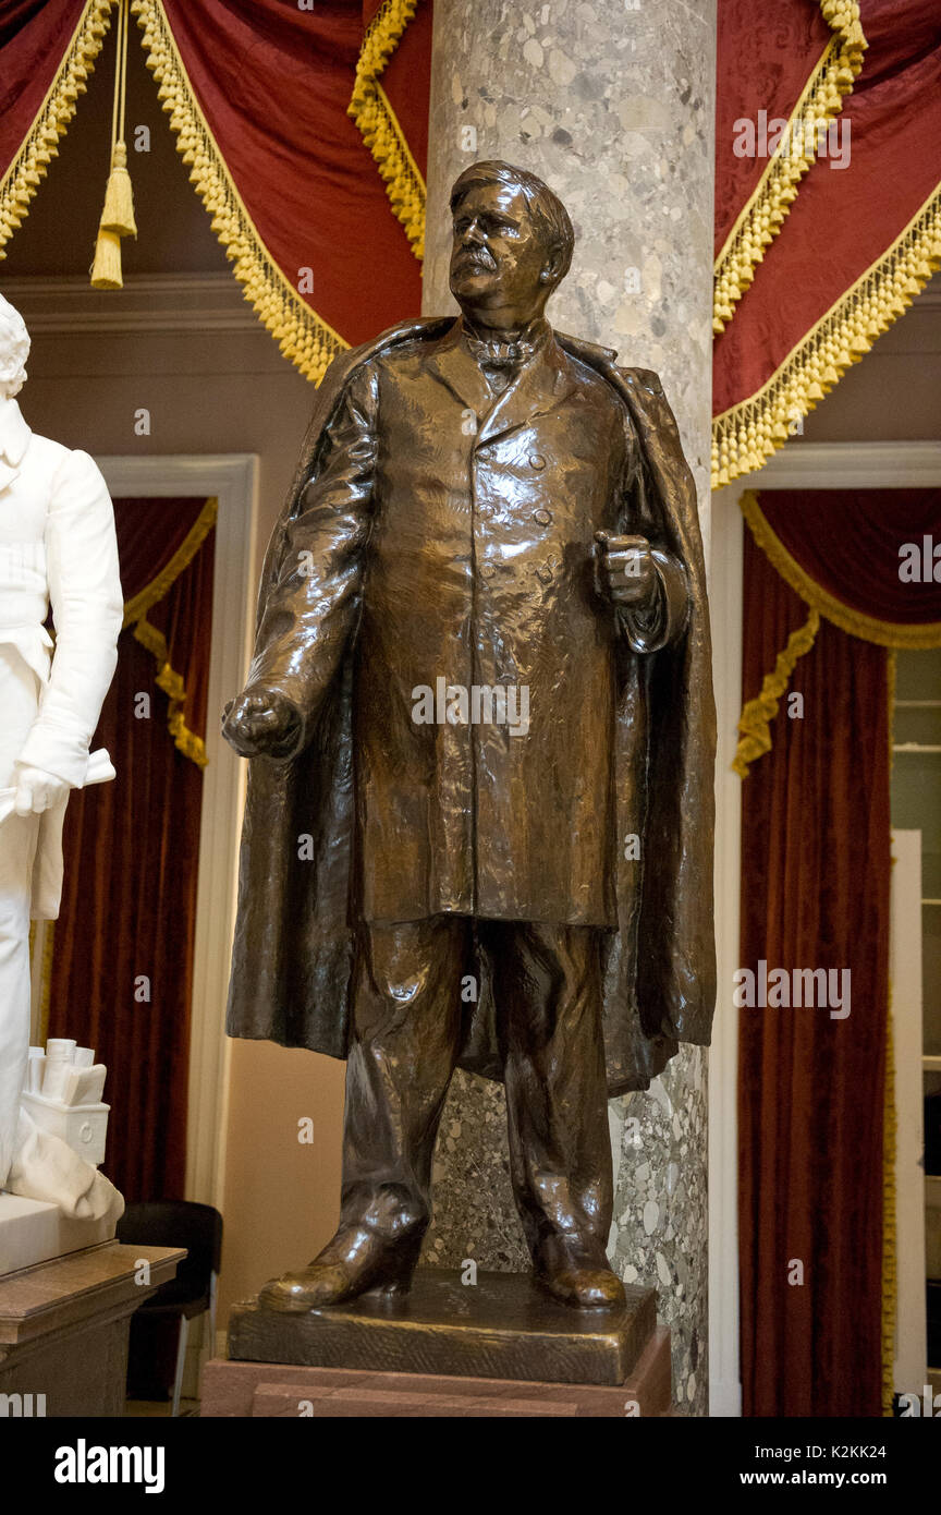
[{"label": "white marble statue's trousers at the left edge", "polygon": [[[15,783],[15,759],[36,715],[36,677],[0,645],[0,788]],[[0,1188],[14,1156],[29,1053],[29,914],[38,815],[0,821]]]}]

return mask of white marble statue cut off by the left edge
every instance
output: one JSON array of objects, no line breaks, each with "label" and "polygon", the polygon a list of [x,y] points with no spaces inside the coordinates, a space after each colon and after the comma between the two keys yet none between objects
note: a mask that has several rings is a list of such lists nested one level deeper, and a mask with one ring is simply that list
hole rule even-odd
[{"label": "white marble statue cut off by the left edge", "polygon": [[57,1151],[57,1138],[38,1142],[20,1117],[29,923],[59,911],[68,791],[113,777],[106,753],[89,767],[89,742],[124,612],[107,485],[88,453],[36,436],[23,420],[14,395],[27,355],[23,318],[0,295],[0,1189],[14,1186],[15,1162],[20,1194],[48,1188],[38,1168],[51,1171]]}]

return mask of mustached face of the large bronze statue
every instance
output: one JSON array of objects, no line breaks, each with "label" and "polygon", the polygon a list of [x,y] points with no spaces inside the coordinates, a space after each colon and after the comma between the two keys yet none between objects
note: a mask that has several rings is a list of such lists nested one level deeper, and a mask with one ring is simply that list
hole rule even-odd
[{"label": "mustached face of the large bronze statue", "polygon": [[451,294],[461,306],[516,308],[530,315],[549,283],[546,248],[522,189],[475,185],[454,212]]}]

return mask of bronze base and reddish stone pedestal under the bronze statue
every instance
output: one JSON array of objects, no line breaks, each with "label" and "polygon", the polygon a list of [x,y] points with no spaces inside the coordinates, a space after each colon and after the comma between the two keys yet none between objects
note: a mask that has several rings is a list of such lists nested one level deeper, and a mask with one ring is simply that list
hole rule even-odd
[{"label": "bronze base and reddish stone pedestal under the bronze statue", "polygon": [[663,1415],[670,1336],[652,1289],[575,1310],[528,1274],[419,1268],[405,1295],[281,1314],[251,1300],[207,1365],[203,1415]]}]

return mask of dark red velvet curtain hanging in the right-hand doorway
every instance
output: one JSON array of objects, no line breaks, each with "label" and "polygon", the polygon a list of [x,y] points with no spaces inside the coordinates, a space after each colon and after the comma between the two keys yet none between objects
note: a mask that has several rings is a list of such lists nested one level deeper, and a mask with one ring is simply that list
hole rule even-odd
[{"label": "dark red velvet curtain hanging in the right-hand doorway", "polygon": [[[806,606],[752,536],[743,694]],[[741,967],[852,974],[850,1014],[740,1009],[744,1415],[879,1415],[888,992],[887,651],[821,623],[744,780]]]}]

